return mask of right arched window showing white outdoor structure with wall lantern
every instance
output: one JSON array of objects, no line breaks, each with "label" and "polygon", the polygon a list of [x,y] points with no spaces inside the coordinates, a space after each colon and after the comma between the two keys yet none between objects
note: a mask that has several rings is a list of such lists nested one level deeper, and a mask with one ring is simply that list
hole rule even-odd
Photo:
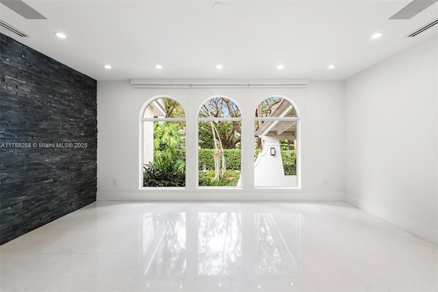
[{"label": "right arched window showing white outdoor structure with wall lantern", "polygon": [[255,110],[255,187],[298,187],[296,107],[282,96],[271,96]]}]

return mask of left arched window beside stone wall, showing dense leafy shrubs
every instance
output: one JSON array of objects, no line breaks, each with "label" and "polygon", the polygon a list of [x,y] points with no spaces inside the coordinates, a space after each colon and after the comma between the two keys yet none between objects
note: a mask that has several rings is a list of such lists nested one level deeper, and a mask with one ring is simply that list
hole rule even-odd
[{"label": "left arched window beside stone wall, showing dense leafy shrubs", "polygon": [[185,114],[174,99],[162,96],[144,107],[142,187],[185,187]]}]

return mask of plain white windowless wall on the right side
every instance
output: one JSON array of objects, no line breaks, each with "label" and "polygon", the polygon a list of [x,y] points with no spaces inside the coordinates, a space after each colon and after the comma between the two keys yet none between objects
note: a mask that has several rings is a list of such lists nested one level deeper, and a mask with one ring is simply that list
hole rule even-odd
[{"label": "plain white windowless wall on the right side", "polygon": [[437,37],[346,80],[346,202],[438,243]]}]

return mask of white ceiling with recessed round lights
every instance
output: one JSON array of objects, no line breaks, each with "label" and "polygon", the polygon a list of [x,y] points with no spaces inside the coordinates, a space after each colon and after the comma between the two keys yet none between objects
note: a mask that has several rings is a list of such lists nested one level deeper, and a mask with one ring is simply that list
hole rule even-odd
[{"label": "white ceiling with recessed round lights", "polygon": [[[1,19],[30,36],[0,31],[99,81],[346,79],[438,34],[435,25],[404,38],[438,17],[435,3],[410,20],[388,19],[409,0],[222,1],[224,11],[209,0],[25,2],[47,20],[27,20],[0,5]],[[385,35],[372,40],[378,31]]]}]

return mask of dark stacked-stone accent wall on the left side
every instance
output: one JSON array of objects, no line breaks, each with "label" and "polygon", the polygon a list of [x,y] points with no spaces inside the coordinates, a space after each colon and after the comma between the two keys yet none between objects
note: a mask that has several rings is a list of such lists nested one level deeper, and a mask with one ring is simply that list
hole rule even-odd
[{"label": "dark stacked-stone accent wall on the left side", "polygon": [[3,34],[0,44],[3,244],[96,200],[97,120],[96,80]]}]

